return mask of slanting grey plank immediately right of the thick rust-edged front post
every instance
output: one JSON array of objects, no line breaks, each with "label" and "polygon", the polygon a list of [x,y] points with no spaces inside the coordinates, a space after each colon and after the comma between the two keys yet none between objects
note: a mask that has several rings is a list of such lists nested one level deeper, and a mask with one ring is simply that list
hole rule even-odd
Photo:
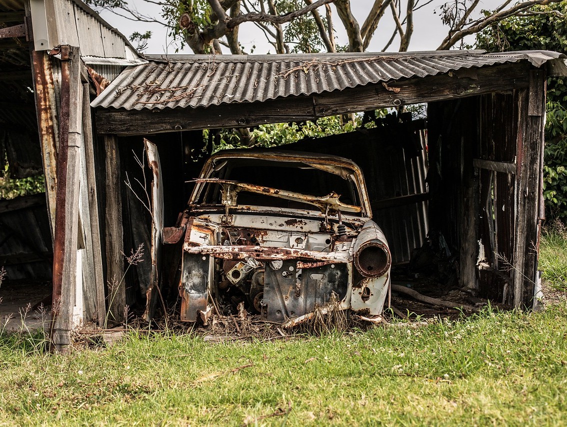
[{"label": "slanting grey plank immediately right of the thick rust-edged front post", "polygon": [[[104,295],[103,260],[101,252],[100,220],[98,191],[96,189],[94,139],[92,135],[91,106],[88,83],[83,84],[83,140],[86,167],[86,192],[88,210],[90,213],[90,253],[94,268],[94,291],[96,306],[96,321],[100,327],[104,324],[106,316],[106,303]],[[87,253],[89,252],[87,246]]]}]

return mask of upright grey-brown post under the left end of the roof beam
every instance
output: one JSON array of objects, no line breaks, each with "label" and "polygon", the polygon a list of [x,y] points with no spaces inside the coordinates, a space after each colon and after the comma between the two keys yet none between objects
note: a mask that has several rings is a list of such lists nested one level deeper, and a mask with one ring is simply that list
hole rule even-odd
[{"label": "upright grey-brown post under the left end of the roof beam", "polygon": [[116,136],[104,136],[106,152],[106,207],[105,240],[108,282],[108,317],[109,320],[122,323],[125,321],[126,289],[124,277],[124,231],[122,229],[122,196],[120,178],[120,154]]}]

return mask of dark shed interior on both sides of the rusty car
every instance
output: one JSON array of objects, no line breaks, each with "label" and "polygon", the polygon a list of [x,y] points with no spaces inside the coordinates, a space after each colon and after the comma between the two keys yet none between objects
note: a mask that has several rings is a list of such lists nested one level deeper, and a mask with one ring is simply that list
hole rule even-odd
[{"label": "dark shed interior on both sides of the rusty car", "polygon": [[[371,120],[373,123],[348,133],[308,138],[296,143],[273,146],[274,150],[295,150],[347,157],[358,164],[365,175],[373,219],[382,228],[390,245],[393,284],[413,288],[426,295],[471,305],[479,302],[476,292],[462,292],[459,277],[459,246],[449,246],[441,231],[430,234],[428,189],[429,156],[427,121],[412,120],[411,114],[397,112]],[[174,227],[206,158],[213,153],[219,136],[209,129],[201,131],[149,135],[156,144],[164,198],[164,227]],[[218,139],[218,138],[217,138]],[[132,313],[142,315],[147,305],[152,257],[151,173],[145,160],[142,137],[119,137],[120,163],[125,186],[122,188],[124,212],[124,248],[130,253],[143,245],[141,263],[128,269],[126,304]],[[472,161],[472,160],[471,160]],[[145,168],[145,174],[142,173]],[[139,184],[145,182],[145,189]],[[148,200],[148,202],[143,202]],[[162,296],[166,310],[179,315],[179,268],[177,253],[163,246]],[[234,304],[236,306],[236,304]],[[402,316],[435,315],[439,309],[419,304],[394,293],[392,306]],[[163,311],[157,305],[158,313]],[[455,315],[458,311],[455,310]]]}]

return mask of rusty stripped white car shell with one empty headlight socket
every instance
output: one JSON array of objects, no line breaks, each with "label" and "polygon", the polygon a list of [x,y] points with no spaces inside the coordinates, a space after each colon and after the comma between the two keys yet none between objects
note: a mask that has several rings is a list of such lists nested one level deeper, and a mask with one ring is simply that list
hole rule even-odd
[{"label": "rusty stripped white car shell with one empty headlight socket", "polygon": [[391,254],[361,170],[324,154],[231,149],[206,161],[165,244],[180,243],[181,320],[246,309],[276,323],[316,307],[380,315]]}]

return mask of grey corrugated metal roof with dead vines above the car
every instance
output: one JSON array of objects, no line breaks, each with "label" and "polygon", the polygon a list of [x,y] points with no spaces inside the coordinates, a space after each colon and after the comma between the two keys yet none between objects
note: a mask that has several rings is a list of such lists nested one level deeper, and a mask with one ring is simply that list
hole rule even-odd
[{"label": "grey corrugated metal roof with dead vines above the car", "polygon": [[154,56],[147,64],[124,70],[92,106],[141,110],[266,101],[507,62],[527,60],[540,66],[559,57],[565,55],[547,51],[434,51]]}]

